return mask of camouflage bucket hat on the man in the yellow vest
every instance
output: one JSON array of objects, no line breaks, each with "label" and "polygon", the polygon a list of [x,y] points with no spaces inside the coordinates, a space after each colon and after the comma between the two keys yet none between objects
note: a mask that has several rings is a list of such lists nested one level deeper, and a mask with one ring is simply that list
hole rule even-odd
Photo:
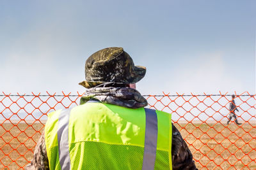
[{"label": "camouflage bucket hat on the man in the yellow vest", "polygon": [[79,83],[89,89],[106,82],[137,83],[145,76],[146,67],[134,66],[130,55],[120,47],[93,53],[85,63],[85,80]]}]

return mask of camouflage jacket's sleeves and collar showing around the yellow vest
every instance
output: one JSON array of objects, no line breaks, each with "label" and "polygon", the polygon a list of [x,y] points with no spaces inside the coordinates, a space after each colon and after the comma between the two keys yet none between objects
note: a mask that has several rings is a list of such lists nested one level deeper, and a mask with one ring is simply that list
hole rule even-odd
[{"label": "camouflage jacket's sleeves and collar showing around the yellow vest", "polygon": [[[100,87],[89,89],[81,98],[81,104],[86,103],[89,99],[97,99],[102,103],[116,104],[129,108],[139,108],[147,106],[147,100],[134,89],[122,87]],[[132,104],[133,103],[133,104]],[[186,142],[180,132],[172,124],[172,164],[173,169],[196,169],[193,155],[191,154]],[[33,155],[31,163],[26,169],[49,169],[47,159],[44,132],[40,137]]]}]

